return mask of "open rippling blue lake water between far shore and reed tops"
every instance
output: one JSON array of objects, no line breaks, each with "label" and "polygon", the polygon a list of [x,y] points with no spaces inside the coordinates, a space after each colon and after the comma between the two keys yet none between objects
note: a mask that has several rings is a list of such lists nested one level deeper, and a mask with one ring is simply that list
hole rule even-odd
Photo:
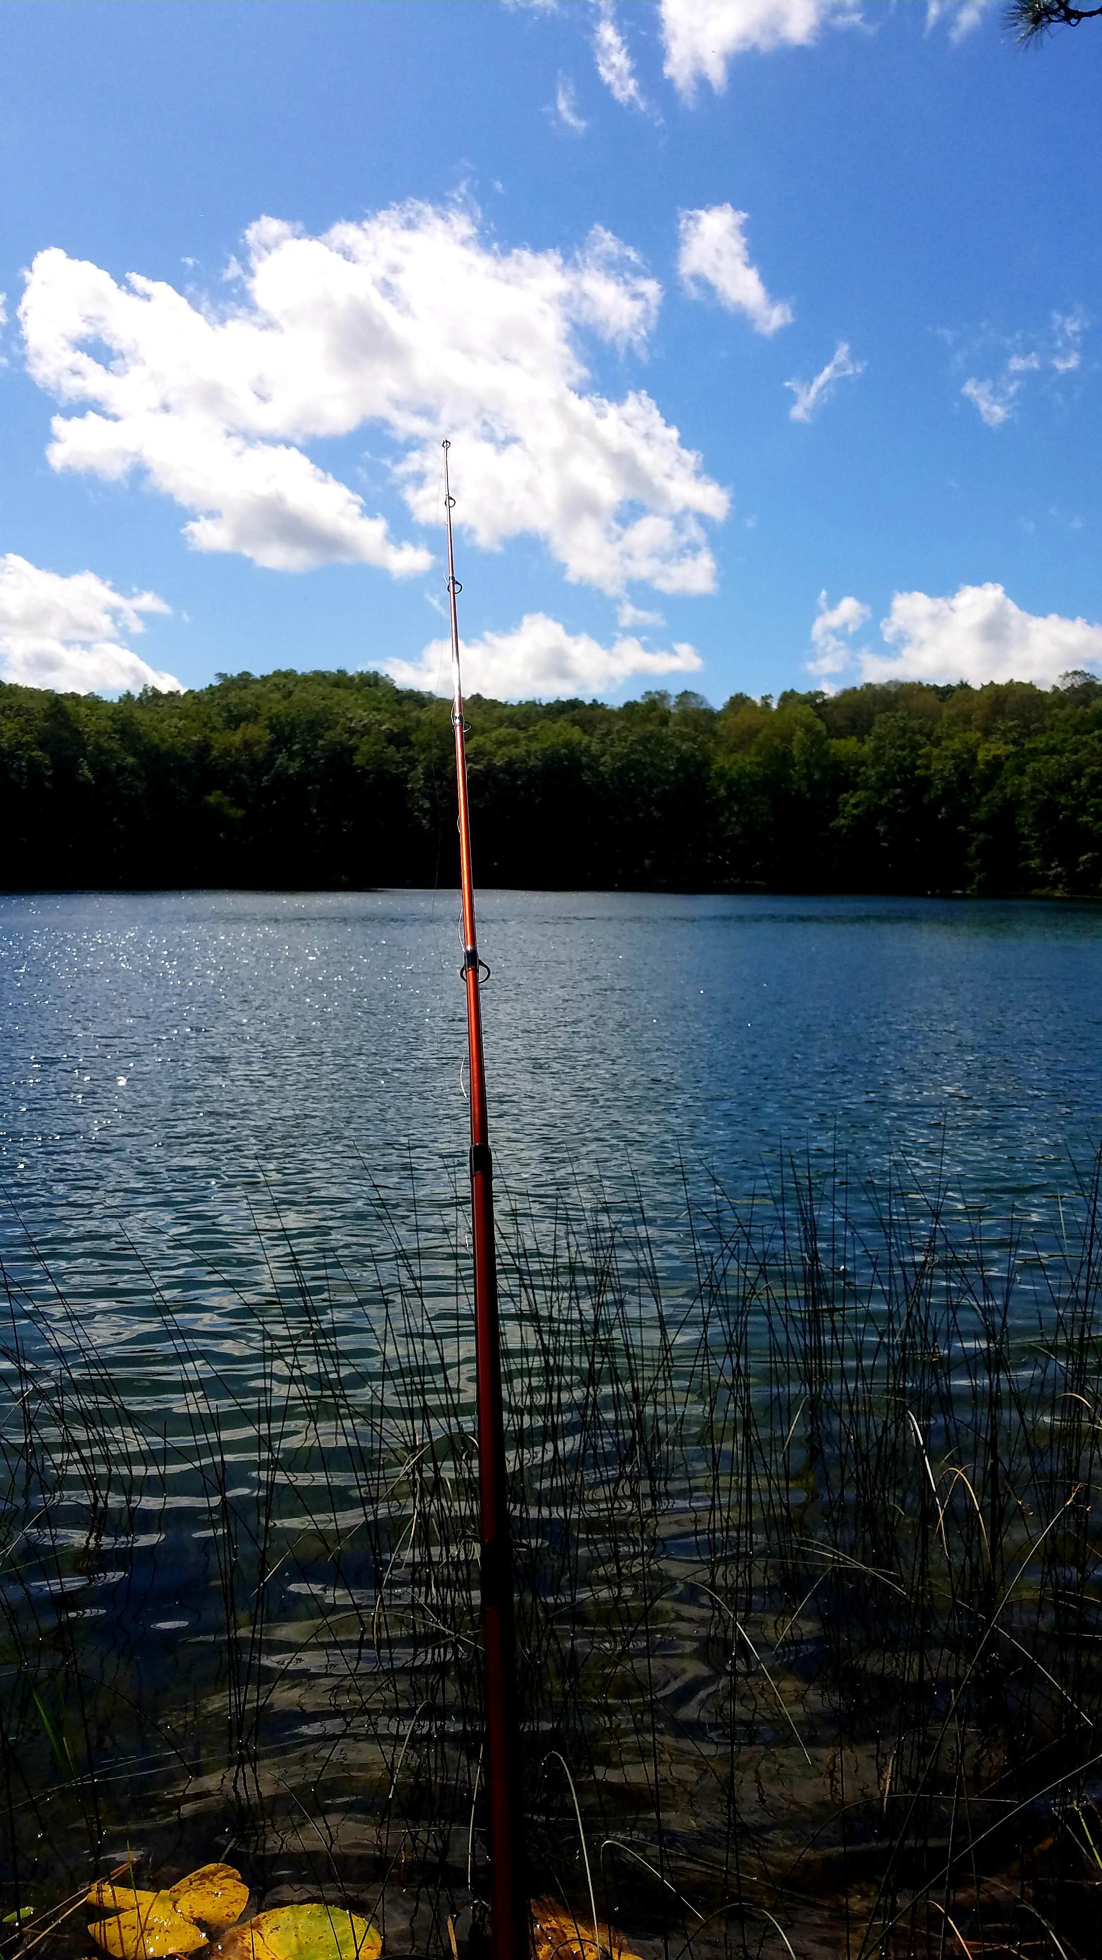
[{"label": "open rippling blue lake water between far shore and reed tops", "polygon": [[[855,1176],[943,1158],[1051,1209],[1102,1137],[1102,909],[878,898],[486,892],[498,1178],[657,1221],[782,1151]],[[449,892],[0,900],[2,1243],[71,1298],[253,1284],[255,1211],[361,1266],[465,1176]],[[106,1333],[110,1333],[106,1329]],[[124,1337],[133,1327],[114,1327]],[[114,1337],[112,1335],[112,1337]]]}]

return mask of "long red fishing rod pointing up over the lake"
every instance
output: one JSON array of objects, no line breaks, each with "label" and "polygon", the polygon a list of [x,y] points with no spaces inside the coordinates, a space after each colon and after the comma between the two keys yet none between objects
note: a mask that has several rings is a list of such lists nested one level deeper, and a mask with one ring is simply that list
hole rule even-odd
[{"label": "long red fishing rod pointing up over the lake", "polygon": [[494,1168],[486,1121],[482,1056],[482,998],[475,933],[475,874],[471,868],[471,804],[467,796],[467,725],[459,674],[459,615],[463,590],[455,576],[451,512],[443,445],[443,508],[447,521],[447,602],[451,613],[451,725],[455,729],[455,788],[459,796],[459,878],[463,886],[463,980],[467,986],[467,1053],[471,1060],[471,1225],[475,1245],[475,1374],[478,1384],[478,1539],[482,1548],[482,1666],[486,1697],[486,1803],[490,1817],[490,1936],[494,1960],[529,1960],[529,1909],[524,1876],[524,1799],[518,1762],[516,1644],[512,1535],[506,1486],[506,1427],[502,1411],[502,1347],[498,1329],[498,1262],[494,1250]]}]

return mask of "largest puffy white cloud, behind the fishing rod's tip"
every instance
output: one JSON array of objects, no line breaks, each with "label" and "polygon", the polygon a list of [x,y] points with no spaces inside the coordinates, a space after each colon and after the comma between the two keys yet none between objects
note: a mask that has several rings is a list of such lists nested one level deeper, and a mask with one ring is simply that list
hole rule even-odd
[{"label": "largest puffy white cloud, behind the fishing rod's tip", "polygon": [[[543,539],[567,578],[710,592],[702,517],[727,496],[649,394],[586,388],[580,333],[643,347],[661,286],[600,227],[573,257],[498,249],[463,210],[406,204],[322,237],[261,218],[245,294],[218,310],[51,249],[22,306],[27,367],[63,404],[55,468],[141,472],[194,517],[200,551],[257,564],[424,570],[420,545],[300,447],[378,423],[422,523],[439,523],[453,439],[457,521],[486,549]],[[106,349],[106,357],[100,357]]]}]

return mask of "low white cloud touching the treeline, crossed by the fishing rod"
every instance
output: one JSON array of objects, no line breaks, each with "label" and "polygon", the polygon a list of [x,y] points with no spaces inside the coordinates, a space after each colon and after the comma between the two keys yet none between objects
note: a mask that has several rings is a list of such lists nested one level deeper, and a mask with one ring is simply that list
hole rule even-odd
[{"label": "low white cloud touching the treeline, crossed by the fishing rod", "polygon": [[[667,653],[649,653],[629,637],[602,647],[588,633],[567,633],[547,613],[526,613],[512,633],[463,643],[463,688],[494,700],[573,698],[606,694],[635,674],[696,674],[702,664],[680,641]],[[420,661],[386,661],[384,668],[404,688],[451,688],[447,641],[433,641]]]}]

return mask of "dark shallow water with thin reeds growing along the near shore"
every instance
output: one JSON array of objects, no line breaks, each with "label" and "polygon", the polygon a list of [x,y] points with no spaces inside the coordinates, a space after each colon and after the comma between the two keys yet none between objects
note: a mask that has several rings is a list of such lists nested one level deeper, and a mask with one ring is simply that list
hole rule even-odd
[{"label": "dark shallow water with thin reeds growing along the near shore", "polygon": [[[1090,1950],[1100,1227],[1098,1176],[1026,1229],[794,1170],[686,1201],[676,1258],[641,1205],[502,1221],[533,1891],[675,1960]],[[161,1301],[145,1396],[10,1260],[12,1950],[129,1858],[159,1887],[231,1858],[265,1909],[322,1893],[384,1950],[476,1950],[449,1231],[422,1258],[380,1213],[375,1270],[326,1284],[276,1241],[222,1348],[214,1305]]]}]

